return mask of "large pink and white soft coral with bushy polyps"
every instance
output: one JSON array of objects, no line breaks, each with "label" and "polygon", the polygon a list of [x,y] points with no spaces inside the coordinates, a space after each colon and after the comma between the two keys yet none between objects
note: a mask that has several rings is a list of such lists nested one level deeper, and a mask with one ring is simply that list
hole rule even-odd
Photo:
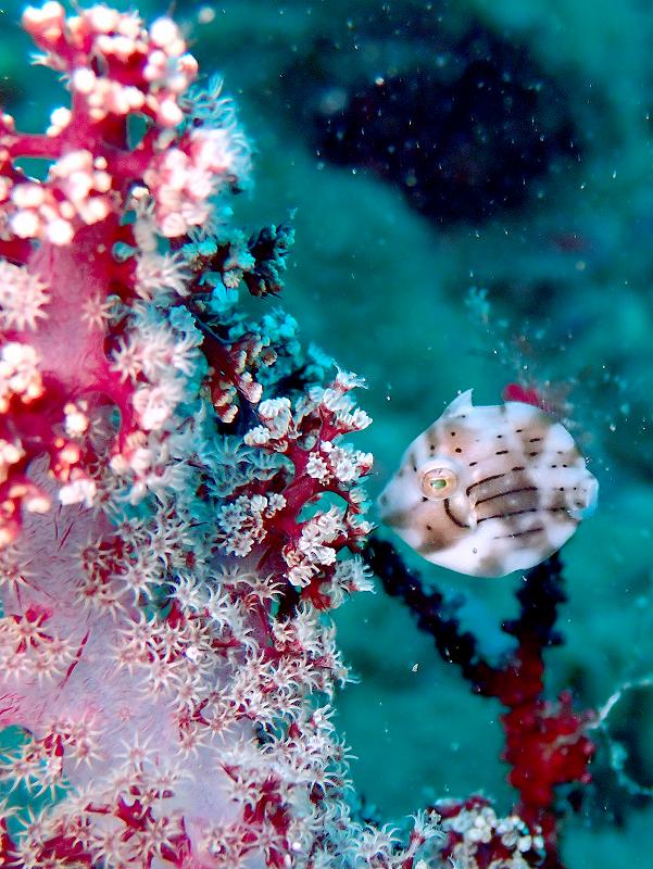
[{"label": "large pink and white soft coral with bushy polyps", "polygon": [[[0,865],[553,866],[551,789],[591,752],[541,669],[528,711],[553,735],[507,750],[548,789],[515,780],[522,815],[354,811],[326,613],[372,584],[372,456],[342,441],[362,381],[242,312],[240,289],[282,288],[292,230],[229,226],[249,148],[173,21],[47,2],[23,23],[71,106],[45,135],[0,122]],[[484,693],[523,681],[475,666]]]}]

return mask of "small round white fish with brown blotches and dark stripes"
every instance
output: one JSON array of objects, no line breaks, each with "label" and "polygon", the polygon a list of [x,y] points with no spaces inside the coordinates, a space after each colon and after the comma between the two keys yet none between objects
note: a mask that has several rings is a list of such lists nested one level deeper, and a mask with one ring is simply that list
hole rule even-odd
[{"label": "small round white fish with brown blotches and dark stripes", "polygon": [[381,520],[432,564],[474,577],[528,570],[597,506],[567,429],[532,404],[460,394],[415,438],[381,491]]}]

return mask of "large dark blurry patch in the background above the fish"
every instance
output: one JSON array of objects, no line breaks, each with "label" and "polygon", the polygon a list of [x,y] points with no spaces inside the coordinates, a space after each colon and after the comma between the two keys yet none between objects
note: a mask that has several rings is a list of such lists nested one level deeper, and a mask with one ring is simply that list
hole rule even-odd
[{"label": "large dark blurry patch in the background above the fish", "polygon": [[399,18],[350,22],[287,73],[321,156],[380,175],[442,225],[522,205],[579,159],[568,100],[524,48],[435,13]]}]

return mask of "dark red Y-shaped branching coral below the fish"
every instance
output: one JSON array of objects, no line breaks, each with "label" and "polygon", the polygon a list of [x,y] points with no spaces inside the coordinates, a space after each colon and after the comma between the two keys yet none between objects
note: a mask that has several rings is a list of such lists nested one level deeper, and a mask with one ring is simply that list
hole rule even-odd
[{"label": "dark red Y-shaped branching coral below the fish", "polygon": [[[594,744],[587,735],[587,725],[595,716],[591,710],[574,711],[568,692],[555,703],[548,703],[543,696],[543,652],[561,642],[554,631],[558,604],[565,600],[560,557],[554,555],[525,575],[517,592],[519,616],[502,626],[517,645],[507,660],[497,666],[482,658],[476,639],[461,629],[455,609],[444,596],[437,590],[426,591],[419,576],[402,563],[390,543],[373,538],[364,555],[386,591],[401,597],[416,615],[418,626],[432,635],[444,660],[461,667],[475,693],[495,697],[506,709],[501,716],[505,734],[502,759],[510,764],[507,779],[519,794],[514,814],[530,836],[525,840],[525,833],[520,834],[523,856],[531,866],[562,869],[555,789],[590,781],[588,767]],[[476,796],[466,803],[438,805],[450,820],[450,853],[463,842],[464,818],[485,818],[488,839],[476,853],[479,869],[506,856],[506,833],[498,832],[501,824],[493,813],[490,817],[488,806]],[[540,840],[541,849],[536,846]]]}]

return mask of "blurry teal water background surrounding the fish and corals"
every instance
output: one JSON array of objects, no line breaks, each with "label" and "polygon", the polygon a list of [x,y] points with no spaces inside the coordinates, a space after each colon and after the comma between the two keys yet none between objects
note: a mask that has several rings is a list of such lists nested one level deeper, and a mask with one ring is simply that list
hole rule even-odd
[{"label": "blurry teal water background surrounding the fish and corals", "polygon": [[[237,205],[238,221],[279,223],[297,210],[281,304],[306,342],[368,381],[362,404],[375,425],[357,445],[376,455],[373,494],[459,390],[473,387],[477,403],[492,404],[506,382],[532,377],[567,393],[601,494],[598,513],[564,551],[566,643],[548,654],[548,687],[554,696],[570,685],[578,705],[599,706],[626,679],[653,671],[653,8],[637,0],[439,4],[436,30],[478,26],[525,47],[565,93],[582,151],[529,185],[522,207],[438,226],[369,168],[317,155],[288,96],[288,87],[304,92],[305,81],[288,81],[298,58],[314,56],[318,67],[325,36],[355,45],[384,5],[178,2],[175,14],[188,23],[202,68],[224,75],[256,148],[254,187]],[[391,5],[399,18],[415,9]],[[0,10],[0,99],[36,129],[63,97],[48,74],[25,71],[20,10],[13,2]],[[145,15],[165,11],[141,4]],[[473,288],[487,290],[488,310]],[[486,645],[495,642],[497,624],[515,610],[518,576],[478,580],[420,568],[469,595],[470,627]],[[360,677],[338,700],[339,723],[356,755],[356,788],[380,817],[479,790],[507,810],[499,706],[472,697],[381,593],[360,595],[337,621]],[[629,771],[652,784],[653,692],[631,695],[617,722]],[[600,744],[595,784],[580,811],[569,813],[568,869],[653,865],[653,807],[618,786],[606,756]]]}]

